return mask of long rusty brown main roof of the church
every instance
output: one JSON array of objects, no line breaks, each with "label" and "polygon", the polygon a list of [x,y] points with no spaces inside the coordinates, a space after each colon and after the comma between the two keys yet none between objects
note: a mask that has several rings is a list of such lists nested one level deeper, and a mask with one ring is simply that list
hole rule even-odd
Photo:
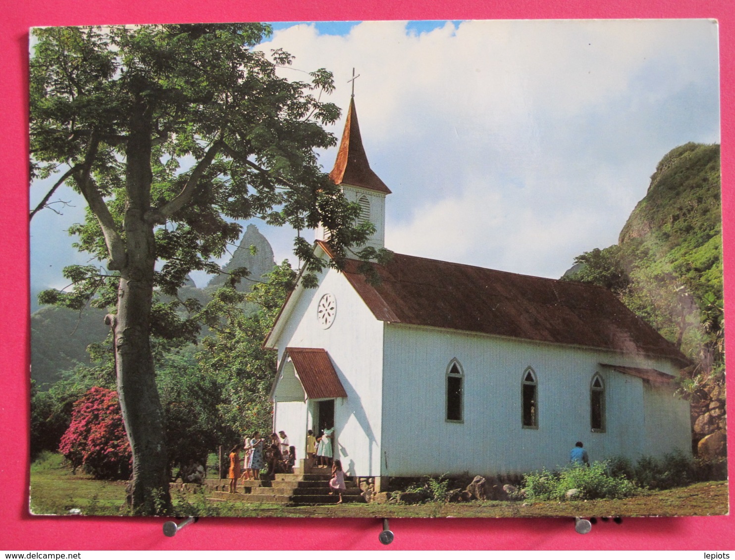
[{"label": "long rusty brown main roof of the church", "polygon": [[[329,254],[329,246],[318,243]],[[684,354],[598,286],[396,254],[370,286],[349,260],[345,276],[380,321],[481,332],[668,357]]]}]

